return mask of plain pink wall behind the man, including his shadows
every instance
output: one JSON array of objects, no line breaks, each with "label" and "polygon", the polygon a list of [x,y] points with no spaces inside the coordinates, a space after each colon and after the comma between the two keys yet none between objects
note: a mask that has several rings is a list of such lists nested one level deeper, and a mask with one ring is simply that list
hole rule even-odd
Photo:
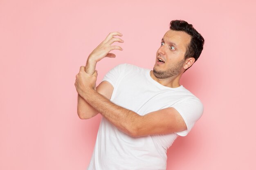
[{"label": "plain pink wall behind the man, including his shadows", "polygon": [[101,115],[77,116],[79,67],[112,31],[124,51],[97,65],[97,84],[121,63],[153,68],[168,24],[183,19],[205,38],[181,84],[204,104],[167,170],[255,169],[253,0],[0,0],[0,169],[85,170]]}]

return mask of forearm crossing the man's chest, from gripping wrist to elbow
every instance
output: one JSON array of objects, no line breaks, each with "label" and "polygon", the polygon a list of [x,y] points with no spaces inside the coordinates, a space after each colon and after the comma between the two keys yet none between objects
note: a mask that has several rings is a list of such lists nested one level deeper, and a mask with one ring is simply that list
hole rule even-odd
[{"label": "forearm crossing the man's chest, from gripping wrist to elbow", "polygon": [[93,89],[89,89],[81,96],[101,115],[106,117],[119,130],[133,136],[136,131],[135,120],[141,118],[137,113],[110,102],[106,97]]}]

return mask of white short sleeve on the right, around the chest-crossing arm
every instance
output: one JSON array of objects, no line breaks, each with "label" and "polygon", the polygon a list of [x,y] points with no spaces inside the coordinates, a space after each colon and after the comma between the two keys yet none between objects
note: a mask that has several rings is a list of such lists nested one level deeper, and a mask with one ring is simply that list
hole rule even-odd
[{"label": "white short sleeve on the right, around the chest-crossing arm", "polygon": [[175,133],[180,136],[188,135],[195,122],[202,116],[204,110],[202,102],[198,98],[190,98],[175,104],[172,107],[180,113],[187,127],[187,130]]}]

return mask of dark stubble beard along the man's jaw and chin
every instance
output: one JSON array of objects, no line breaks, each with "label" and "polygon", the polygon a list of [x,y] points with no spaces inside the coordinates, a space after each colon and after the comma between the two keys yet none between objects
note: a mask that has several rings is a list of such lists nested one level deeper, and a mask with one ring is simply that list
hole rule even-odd
[{"label": "dark stubble beard along the man's jaw and chin", "polygon": [[157,77],[159,79],[166,79],[169,77],[173,77],[175,75],[180,74],[180,70],[183,67],[184,62],[185,62],[185,60],[181,60],[180,62],[175,64],[175,66],[168,68],[166,71],[157,70],[154,66],[153,73],[154,73],[155,77]]}]

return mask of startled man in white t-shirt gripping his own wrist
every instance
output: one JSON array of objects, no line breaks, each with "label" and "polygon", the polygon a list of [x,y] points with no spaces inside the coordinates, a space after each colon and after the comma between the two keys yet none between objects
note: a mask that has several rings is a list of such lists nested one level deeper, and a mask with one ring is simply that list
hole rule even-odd
[{"label": "startled man in white t-shirt gripping his own wrist", "polygon": [[110,33],[76,75],[78,115],[103,116],[87,170],[166,170],[166,152],[202,116],[203,105],[180,77],[200,56],[204,38],[191,24],[173,20],[157,50],[153,71],[131,64],[112,68],[95,87],[95,66],[124,42]]}]

